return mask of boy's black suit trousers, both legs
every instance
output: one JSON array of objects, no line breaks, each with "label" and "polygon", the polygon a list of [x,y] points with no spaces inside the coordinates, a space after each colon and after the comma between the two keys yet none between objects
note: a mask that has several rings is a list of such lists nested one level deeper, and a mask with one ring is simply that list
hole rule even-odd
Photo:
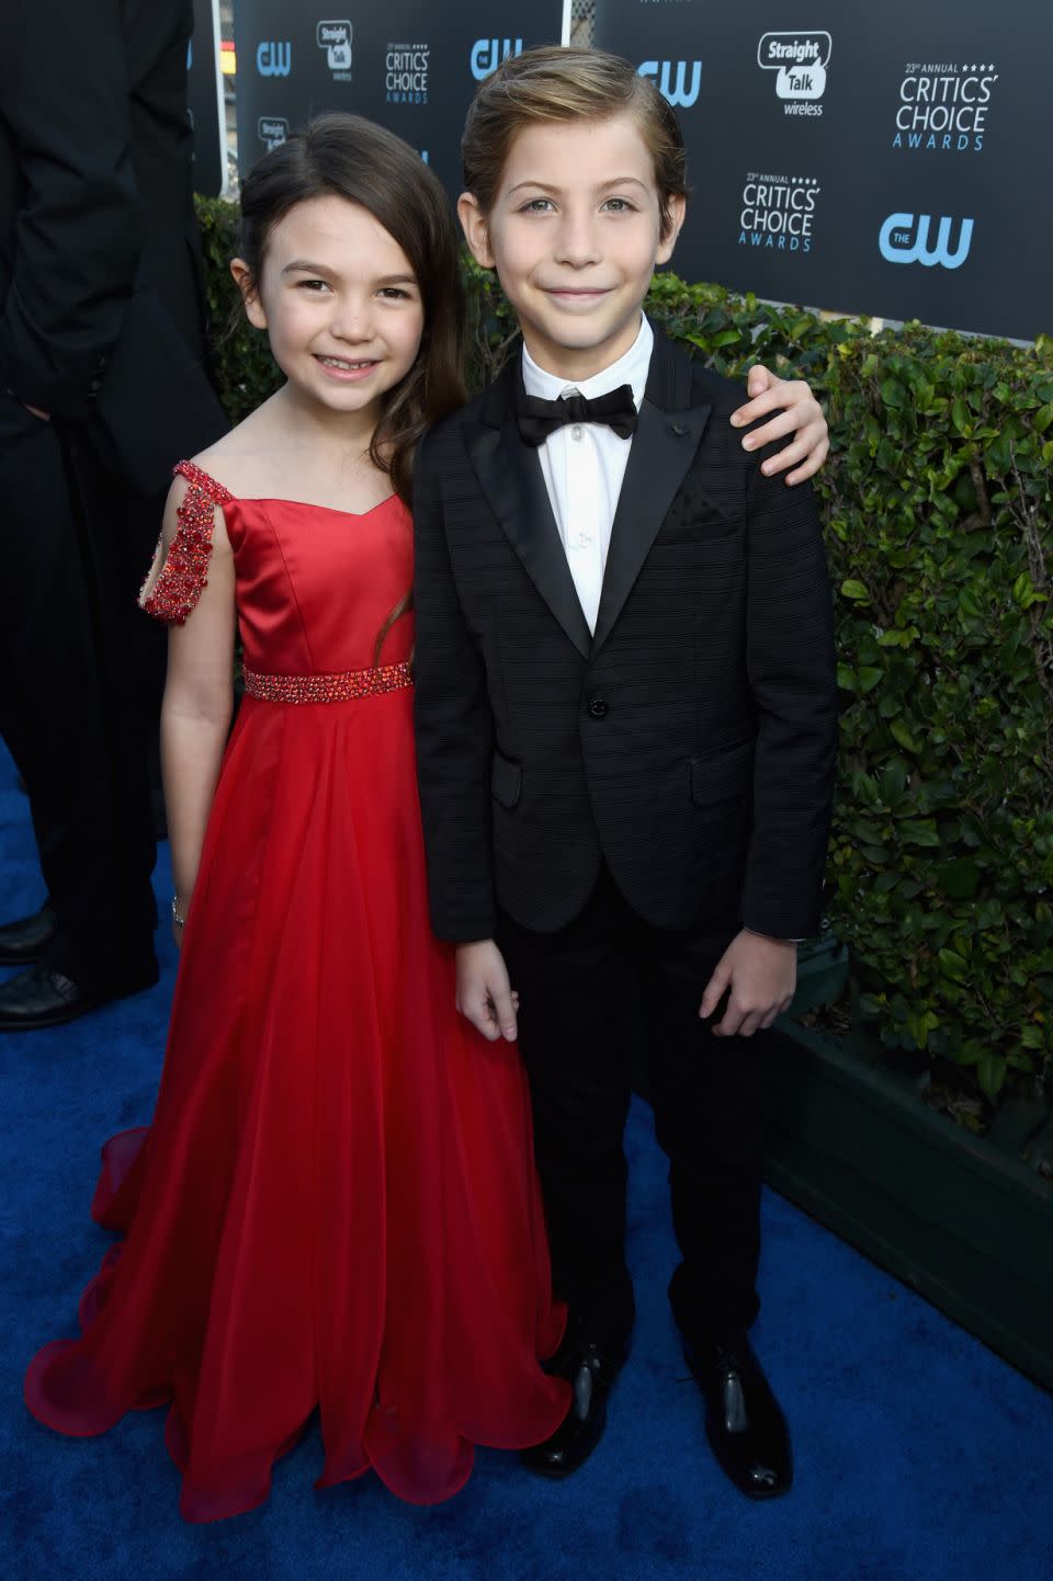
[{"label": "boy's black suit trousers, both legs", "polygon": [[670,1285],[677,1322],[702,1339],[757,1315],[757,1048],[715,1037],[697,1013],[735,931],[734,920],[705,933],[651,928],[607,871],[558,933],[501,917],[498,944],[522,999],[555,1289],[613,1352],[632,1323],[623,1130],[640,1040],[683,1257]]}]

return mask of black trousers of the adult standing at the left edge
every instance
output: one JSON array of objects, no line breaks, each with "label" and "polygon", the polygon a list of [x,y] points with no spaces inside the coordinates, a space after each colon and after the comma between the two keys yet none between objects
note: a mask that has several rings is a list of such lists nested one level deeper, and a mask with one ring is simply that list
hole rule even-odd
[{"label": "black trousers of the adult standing at the left edge", "polygon": [[134,596],[158,520],[82,430],[0,395],[0,732],[57,914],[47,964],[100,991],[155,961],[149,753],[163,639]]}]

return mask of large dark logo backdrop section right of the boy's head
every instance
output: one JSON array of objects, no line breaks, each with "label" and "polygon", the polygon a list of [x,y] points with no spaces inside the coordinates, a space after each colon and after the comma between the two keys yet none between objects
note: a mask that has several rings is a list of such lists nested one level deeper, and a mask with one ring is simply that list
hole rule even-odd
[{"label": "large dark logo backdrop section right of the boy's head", "polygon": [[596,0],[594,41],[677,106],[686,278],[1053,330],[1048,0]]}]

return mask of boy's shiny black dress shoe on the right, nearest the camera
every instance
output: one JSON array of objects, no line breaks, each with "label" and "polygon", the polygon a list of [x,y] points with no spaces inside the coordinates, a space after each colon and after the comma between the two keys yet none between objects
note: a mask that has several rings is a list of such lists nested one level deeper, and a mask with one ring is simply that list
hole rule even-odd
[{"label": "boy's shiny black dress shoe on the right, nearest the camera", "polygon": [[778,1499],[794,1480],[789,1431],[745,1334],[685,1356],[705,1399],[705,1436],[721,1469],[749,1499]]}]

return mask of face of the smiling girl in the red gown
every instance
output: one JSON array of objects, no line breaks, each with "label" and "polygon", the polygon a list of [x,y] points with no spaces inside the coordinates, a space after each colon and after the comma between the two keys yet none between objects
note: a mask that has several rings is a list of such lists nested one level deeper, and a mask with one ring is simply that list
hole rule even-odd
[{"label": "face of the smiling girl in the red gown", "polygon": [[310,198],[270,231],[259,280],[231,272],[292,392],[329,411],[379,416],[413,367],[424,304],[410,259],[367,209]]}]

